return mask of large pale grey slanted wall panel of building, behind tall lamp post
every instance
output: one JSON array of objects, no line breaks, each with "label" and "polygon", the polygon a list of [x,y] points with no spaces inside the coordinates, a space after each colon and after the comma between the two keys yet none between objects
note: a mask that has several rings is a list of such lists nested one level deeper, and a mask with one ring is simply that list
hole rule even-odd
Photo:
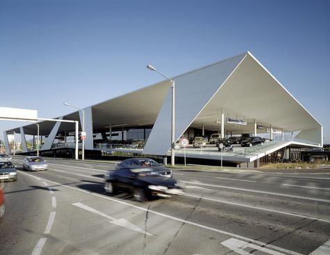
[{"label": "large pale grey slanted wall panel of building, behind tall lamp post", "polygon": [[[194,121],[246,54],[214,63],[175,80],[175,139]],[[171,88],[157,116],[143,154],[165,155],[171,148]]]}]

